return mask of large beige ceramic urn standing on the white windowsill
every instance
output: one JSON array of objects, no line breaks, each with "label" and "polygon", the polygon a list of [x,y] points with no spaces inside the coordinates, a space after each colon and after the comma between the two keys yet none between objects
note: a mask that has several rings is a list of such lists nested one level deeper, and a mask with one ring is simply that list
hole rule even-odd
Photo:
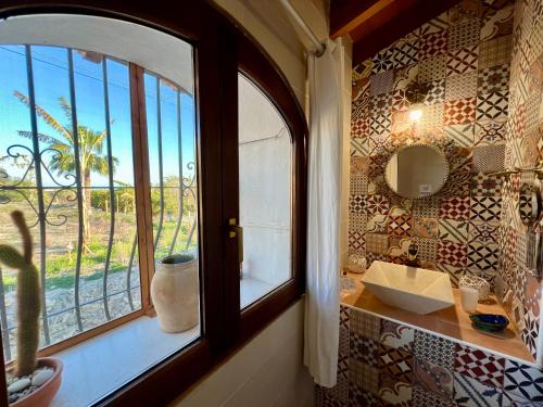
[{"label": "large beige ceramic urn standing on the white windowsill", "polygon": [[186,263],[156,265],[151,281],[159,325],[165,332],[182,332],[199,320],[198,259]]}]

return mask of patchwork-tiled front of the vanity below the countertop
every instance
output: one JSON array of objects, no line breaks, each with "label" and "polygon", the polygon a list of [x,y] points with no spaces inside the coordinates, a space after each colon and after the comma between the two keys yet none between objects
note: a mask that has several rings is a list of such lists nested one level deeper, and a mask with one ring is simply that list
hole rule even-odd
[{"label": "patchwork-tiled front of the vanity below the countertop", "polygon": [[341,307],[338,383],[318,407],[540,406],[543,372],[500,355]]}]

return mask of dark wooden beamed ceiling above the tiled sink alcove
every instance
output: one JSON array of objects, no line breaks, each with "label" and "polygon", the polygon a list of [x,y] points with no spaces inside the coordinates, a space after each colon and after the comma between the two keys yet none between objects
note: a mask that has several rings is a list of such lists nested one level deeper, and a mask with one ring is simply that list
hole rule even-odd
[{"label": "dark wooden beamed ceiling above the tiled sink alcove", "polygon": [[330,37],[353,40],[353,65],[370,58],[459,0],[331,0]]}]

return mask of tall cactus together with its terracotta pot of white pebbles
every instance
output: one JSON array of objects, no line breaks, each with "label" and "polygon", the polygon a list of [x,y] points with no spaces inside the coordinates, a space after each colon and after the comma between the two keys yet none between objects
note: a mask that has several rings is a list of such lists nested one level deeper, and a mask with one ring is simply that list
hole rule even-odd
[{"label": "tall cactus together with its terracotta pot of white pebbles", "polygon": [[61,385],[62,361],[37,358],[41,290],[38,269],[33,263],[33,241],[24,215],[12,212],[11,218],[23,240],[23,253],[0,244],[0,264],[17,270],[17,352],[14,367],[8,370],[11,407],[46,407]]}]

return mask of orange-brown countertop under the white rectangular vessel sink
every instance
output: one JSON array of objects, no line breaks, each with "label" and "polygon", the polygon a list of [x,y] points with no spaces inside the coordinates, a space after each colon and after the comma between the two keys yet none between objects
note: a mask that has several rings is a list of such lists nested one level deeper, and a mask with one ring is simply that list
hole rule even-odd
[{"label": "orange-brown countertop under the white rectangular vessel sink", "polygon": [[[341,303],[343,305],[361,308],[383,318],[407,323],[416,328],[422,328],[452,338],[453,340],[467,342],[476,347],[489,349],[506,357],[517,358],[530,365],[534,364],[532,356],[520,339],[520,334],[514,328],[510,328],[513,323],[502,333],[487,334],[475,330],[471,327],[469,314],[462,309],[458,289],[453,289],[456,303],[454,307],[427,315],[418,315],[381,303],[368,290],[364,290],[364,284],[361,282],[362,275],[349,274],[348,277],[355,280],[355,289],[343,290],[341,292]],[[505,315],[502,306],[493,297],[489,304],[480,303],[477,306],[477,311]]]}]

